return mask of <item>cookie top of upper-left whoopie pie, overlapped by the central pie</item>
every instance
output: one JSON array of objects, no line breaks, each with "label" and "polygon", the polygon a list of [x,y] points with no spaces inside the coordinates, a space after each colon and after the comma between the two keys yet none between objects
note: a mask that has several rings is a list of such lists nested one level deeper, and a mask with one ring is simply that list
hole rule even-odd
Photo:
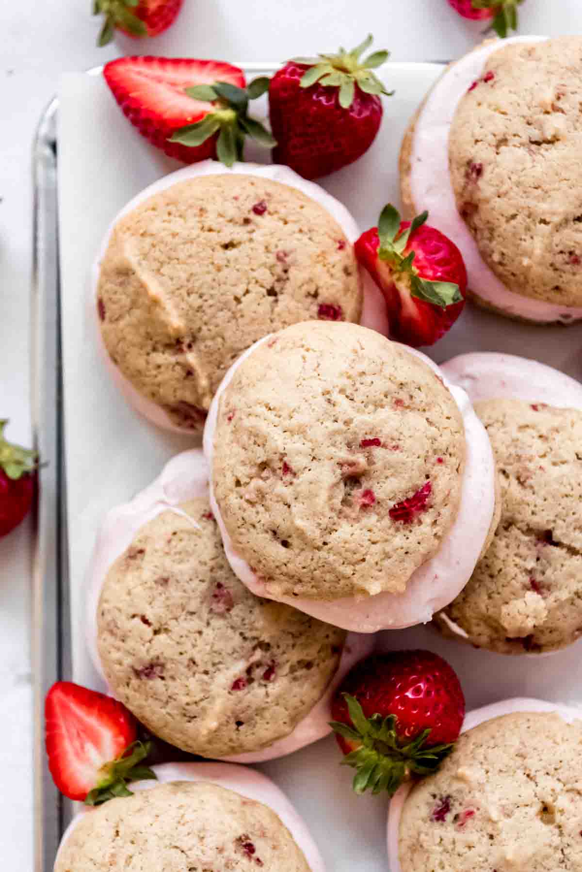
[{"label": "cookie top of upper-left whoopie pie, overlapped by the central pie", "polygon": [[272,330],[359,321],[353,247],[297,188],[218,174],[154,194],[113,228],[97,311],[121,373],[176,425],[200,429],[229,365]]}]

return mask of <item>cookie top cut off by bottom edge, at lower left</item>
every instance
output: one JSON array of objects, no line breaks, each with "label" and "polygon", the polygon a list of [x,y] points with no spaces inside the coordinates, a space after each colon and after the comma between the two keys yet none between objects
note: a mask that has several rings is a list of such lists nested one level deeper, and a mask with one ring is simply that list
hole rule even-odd
[{"label": "cookie top cut off by bottom edge, at lower left", "polygon": [[55,872],[259,867],[309,872],[289,830],[262,802],[216,784],[181,781],[110,800],[85,814],[62,846]]}]

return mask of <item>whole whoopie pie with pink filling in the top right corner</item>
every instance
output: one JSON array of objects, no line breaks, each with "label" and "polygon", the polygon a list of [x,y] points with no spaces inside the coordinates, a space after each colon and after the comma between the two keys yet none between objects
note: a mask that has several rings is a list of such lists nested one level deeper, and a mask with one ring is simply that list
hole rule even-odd
[{"label": "whole whoopie pie with pink filling in the top right corner", "polygon": [[490,40],[408,127],[401,194],[455,240],[469,295],[539,324],[582,318],[582,37]]}]

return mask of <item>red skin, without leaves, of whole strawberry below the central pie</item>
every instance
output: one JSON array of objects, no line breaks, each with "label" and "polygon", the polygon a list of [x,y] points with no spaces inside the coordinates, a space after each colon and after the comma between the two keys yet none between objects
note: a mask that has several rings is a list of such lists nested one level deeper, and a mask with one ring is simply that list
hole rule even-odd
[{"label": "red skin, without leaves, of whole strawberry below the central pie", "polygon": [[[390,651],[356,664],[332,702],[332,719],[352,726],[344,693],[358,700],[366,718],[394,715],[402,745],[427,729],[427,746],[454,742],[465,717],[465,698],[455,671],[431,651]],[[358,746],[343,736],[336,739],[345,754]]]}]

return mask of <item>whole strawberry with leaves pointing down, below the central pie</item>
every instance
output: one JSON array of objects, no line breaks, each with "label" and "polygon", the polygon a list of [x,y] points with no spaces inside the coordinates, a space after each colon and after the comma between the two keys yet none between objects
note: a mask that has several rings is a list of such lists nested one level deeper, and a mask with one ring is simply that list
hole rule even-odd
[{"label": "whole strawberry with leaves pointing down, below the central pie", "polygon": [[348,672],[332,702],[332,728],[353,766],[353,789],[392,796],[452,751],[465,717],[455,671],[430,651],[391,651]]}]

